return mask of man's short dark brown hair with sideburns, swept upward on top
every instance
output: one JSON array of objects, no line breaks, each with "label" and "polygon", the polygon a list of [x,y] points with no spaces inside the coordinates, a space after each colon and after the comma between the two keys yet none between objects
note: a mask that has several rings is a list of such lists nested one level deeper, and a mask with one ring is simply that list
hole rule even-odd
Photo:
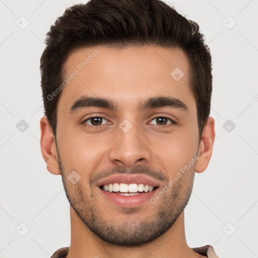
[{"label": "man's short dark brown hair with sideburns, swept upward on top", "polygon": [[197,104],[199,138],[211,108],[212,60],[196,22],[159,0],[91,0],[67,8],[51,26],[40,59],[44,112],[56,135],[60,94],[49,95],[63,82],[64,63],[79,47],[157,45],[182,48],[190,64],[190,88]]}]

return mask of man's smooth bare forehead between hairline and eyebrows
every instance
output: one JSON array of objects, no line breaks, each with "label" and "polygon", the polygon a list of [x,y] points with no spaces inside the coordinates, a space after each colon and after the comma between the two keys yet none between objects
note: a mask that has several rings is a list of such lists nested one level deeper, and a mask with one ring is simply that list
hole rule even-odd
[{"label": "man's smooth bare forehead between hairline and eyebrows", "polygon": [[138,107],[139,100],[159,95],[195,105],[188,60],[180,48],[85,47],[73,51],[64,68],[67,83],[58,108],[66,111],[82,96],[112,99],[121,108]]}]

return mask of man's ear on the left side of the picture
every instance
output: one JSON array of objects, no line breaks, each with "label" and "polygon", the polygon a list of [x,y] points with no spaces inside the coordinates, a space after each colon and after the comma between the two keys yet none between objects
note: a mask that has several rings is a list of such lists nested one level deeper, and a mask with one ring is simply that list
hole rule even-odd
[{"label": "man's ear on the left side of the picture", "polygon": [[46,116],[40,119],[40,132],[40,148],[46,168],[51,174],[60,175],[54,134]]}]

